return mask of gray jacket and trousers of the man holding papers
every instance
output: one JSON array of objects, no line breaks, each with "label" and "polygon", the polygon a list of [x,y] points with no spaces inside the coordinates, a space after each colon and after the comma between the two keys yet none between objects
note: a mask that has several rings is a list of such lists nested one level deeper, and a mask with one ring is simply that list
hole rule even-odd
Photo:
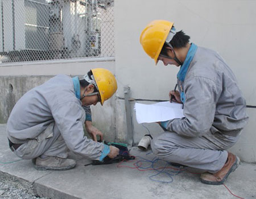
[{"label": "gray jacket and trousers of the man holding papers", "polygon": [[198,47],[184,82],[184,118],[163,122],[153,152],[175,163],[219,171],[247,122],[246,102],[236,77],[217,52]]}]

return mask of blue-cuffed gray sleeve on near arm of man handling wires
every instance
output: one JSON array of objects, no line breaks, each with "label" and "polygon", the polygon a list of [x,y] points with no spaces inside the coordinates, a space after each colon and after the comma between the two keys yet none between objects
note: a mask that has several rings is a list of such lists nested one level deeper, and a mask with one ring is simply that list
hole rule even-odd
[{"label": "blue-cuffed gray sleeve on near arm of man handling wires", "polygon": [[109,153],[109,146],[94,142],[84,136],[85,111],[74,101],[52,108],[52,115],[68,148],[93,160],[102,160]]}]

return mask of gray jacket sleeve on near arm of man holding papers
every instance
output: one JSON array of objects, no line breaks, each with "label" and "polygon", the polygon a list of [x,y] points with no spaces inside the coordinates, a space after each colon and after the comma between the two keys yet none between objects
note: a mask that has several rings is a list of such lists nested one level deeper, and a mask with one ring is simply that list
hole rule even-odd
[{"label": "gray jacket sleeve on near arm of man holding papers", "polygon": [[193,77],[185,83],[184,118],[161,122],[161,126],[177,134],[196,137],[212,126],[217,92],[216,83],[205,77]]}]

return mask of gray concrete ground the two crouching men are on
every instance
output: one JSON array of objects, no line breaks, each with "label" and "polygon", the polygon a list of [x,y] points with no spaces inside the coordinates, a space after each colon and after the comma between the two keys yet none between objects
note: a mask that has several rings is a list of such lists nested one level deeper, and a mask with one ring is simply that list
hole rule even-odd
[{"label": "gray concrete ground the two crouching men are on", "polygon": [[[137,147],[131,148],[130,154],[137,156],[132,162],[85,167],[84,165],[90,163],[90,160],[73,154],[71,157],[77,160],[77,165],[71,170],[37,171],[31,160],[19,160],[11,152],[7,144],[5,128],[6,125],[0,125],[0,175],[19,181],[23,187],[38,196],[54,199],[237,198],[224,185],[202,184],[200,175],[195,174],[198,171],[191,169],[184,171],[184,168],[179,168],[183,171],[178,172],[177,167],[166,165],[160,160],[154,163],[154,168],[175,169],[165,168],[156,175],[158,172],[154,170],[138,171],[127,168],[126,166],[134,167],[133,163],[139,160],[152,160],[155,157],[150,151],[142,152]],[[147,168],[151,163],[140,161],[138,165]],[[230,174],[225,185],[240,198],[256,198],[255,179],[256,165],[241,163],[236,172]]]}]

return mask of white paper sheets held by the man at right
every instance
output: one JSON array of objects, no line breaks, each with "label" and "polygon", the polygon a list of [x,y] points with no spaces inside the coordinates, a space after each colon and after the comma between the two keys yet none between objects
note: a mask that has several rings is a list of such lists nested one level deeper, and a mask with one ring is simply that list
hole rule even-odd
[{"label": "white paper sheets held by the man at right", "polygon": [[138,123],[163,122],[184,117],[182,105],[169,101],[151,105],[135,103],[134,109]]}]

